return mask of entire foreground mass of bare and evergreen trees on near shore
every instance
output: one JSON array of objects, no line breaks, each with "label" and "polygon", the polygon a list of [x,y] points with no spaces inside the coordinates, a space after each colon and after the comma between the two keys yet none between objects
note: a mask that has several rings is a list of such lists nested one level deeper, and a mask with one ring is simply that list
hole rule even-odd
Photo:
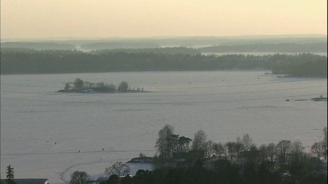
[{"label": "entire foreground mass of bare and evergreen trees on near shore", "polygon": [[[191,140],[174,134],[174,127],[165,125],[158,132],[155,146],[158,152],[153,157],[153,170],[140,169],[131,176],[130,167],[117,162],[105,168],[105,174],[109,177],[100,176],[92,182],[323,184],[327,182],[324,164],[327,158],[327,128],[324,127],[322,130],[322,141],[314,143],[311,152],[306,153],[299,140],[281,140],[278,143],[257,147],[247,133],[242,139],[237,137],[236,141],[217,143],[208,140],[202,130],[197,131]],[[136,159],[150,158],[140,153]],[[87,182],[91,182],[90,180],[89,177]],[[74,177],[71,175],[71,183],[72,181]]]}]

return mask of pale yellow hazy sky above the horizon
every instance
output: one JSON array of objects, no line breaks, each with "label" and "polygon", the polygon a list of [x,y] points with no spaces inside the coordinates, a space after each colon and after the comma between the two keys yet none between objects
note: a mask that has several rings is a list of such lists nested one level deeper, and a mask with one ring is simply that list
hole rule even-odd
[{"label": "pale yellow hazy sky above the horizon", "polygon": [[1,0],[1,38],[327,34],[327,0]]}]

